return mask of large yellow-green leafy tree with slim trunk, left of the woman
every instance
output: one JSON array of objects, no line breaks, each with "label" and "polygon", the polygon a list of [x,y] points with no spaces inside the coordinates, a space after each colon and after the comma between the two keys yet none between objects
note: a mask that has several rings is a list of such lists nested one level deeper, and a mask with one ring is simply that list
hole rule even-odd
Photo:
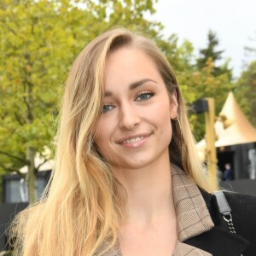
[{"label": "large yellow-green leafy tree with slim trunk, left of the woman", "polygon": [[[113,26],[157,36],[160,24],[143,19],[154,0],[32,1],[0,3],[0,167],[25,174],[30,203],[37,200],[35,155],[51,148],[57,98],[84,44]],[[135,25],[136,24],[136,25]],[[23,174],[21,174],[23,175]]]}]

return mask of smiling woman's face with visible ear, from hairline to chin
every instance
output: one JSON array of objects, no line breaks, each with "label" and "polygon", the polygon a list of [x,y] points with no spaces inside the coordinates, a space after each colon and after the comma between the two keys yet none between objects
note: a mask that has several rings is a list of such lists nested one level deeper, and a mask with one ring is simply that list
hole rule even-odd
[{"label": "smiling woman's face with visible ear, from hairline to chin", "polygon": [[113,168],[169,161],[171,119],[177,99],[169,96],[154,61],[140,49],[121,48],[108,56],[102,114],[95,143]]}]

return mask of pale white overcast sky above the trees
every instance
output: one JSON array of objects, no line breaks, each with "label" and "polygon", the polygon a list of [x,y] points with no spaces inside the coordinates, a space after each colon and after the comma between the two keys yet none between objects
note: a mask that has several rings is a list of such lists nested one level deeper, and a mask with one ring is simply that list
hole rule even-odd
[{"label": "pale white overcast sky above the trees", "polygon": [[230,58],[235,78],[243,63],[256,60],[245,46],[256,48],[256,0],[159,0],[152,20],[160,21],[166,36],[177,34],[180,44],[188,39],[195,53],[207,46],[207,32],[217,33],[224,58]]}]

